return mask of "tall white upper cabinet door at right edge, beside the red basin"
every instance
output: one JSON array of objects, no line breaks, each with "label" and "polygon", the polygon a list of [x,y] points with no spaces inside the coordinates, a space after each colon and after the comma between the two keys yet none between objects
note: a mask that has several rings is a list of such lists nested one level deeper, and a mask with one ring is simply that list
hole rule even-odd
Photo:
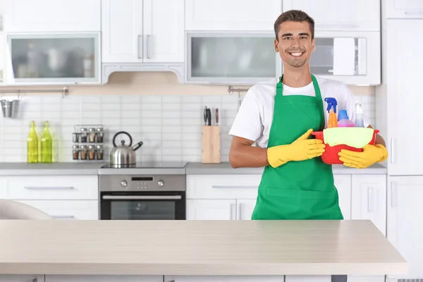
[{"label": "tall white upper cabinet door at right edge, beside the red basin", "polygon": [[[423,3],[423,1],[422,1]],[[423,175],[423,166],[416,156],[423,155],[423,147],[416,146],[422,138],[419,128],[423,96],[420,80],[423,77],[423,56],[415,50],[423,49],[423,37],[415,38],[415,31],[423,30],[422,20],[387,20],[386,39],[386,99],[388,175]],[[413,38],[411,41],[408,41]],[[407,44],[404,42],[407,41]],[[407,121],[401,116],[407,116]],[[382,121],[383,123],[383,121]]]}]

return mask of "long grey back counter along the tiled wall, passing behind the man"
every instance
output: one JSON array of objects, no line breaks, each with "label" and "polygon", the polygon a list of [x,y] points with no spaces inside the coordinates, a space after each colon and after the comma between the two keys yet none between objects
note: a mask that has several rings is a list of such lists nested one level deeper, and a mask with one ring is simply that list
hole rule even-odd
[{"label": "long grey back counter along the tiled wall, passing behind the man", "polygon": [[[232,168],[228,162],[202,164],[188,162],[178,167],[152,168],[102,168],[106,162],[95,163],[0,163],[0,176],[16,175],[107,175],[107,174],[262,174],[264,168]],[[356,169],[343,165],[333,165],[334,174],[386,174],[386,167],[375,164],[369,168]]]}]

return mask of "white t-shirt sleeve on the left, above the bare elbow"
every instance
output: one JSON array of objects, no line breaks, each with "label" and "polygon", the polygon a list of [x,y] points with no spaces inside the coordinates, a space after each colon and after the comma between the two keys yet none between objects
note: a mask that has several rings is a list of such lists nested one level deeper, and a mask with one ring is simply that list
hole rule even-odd
[{"label": "white t-shirt sleeve on the left, above the bare elbow", "polygon": [[255,93],[250,89],[235,116],[229,135],[256,141],[262,135],[262,118]]}]

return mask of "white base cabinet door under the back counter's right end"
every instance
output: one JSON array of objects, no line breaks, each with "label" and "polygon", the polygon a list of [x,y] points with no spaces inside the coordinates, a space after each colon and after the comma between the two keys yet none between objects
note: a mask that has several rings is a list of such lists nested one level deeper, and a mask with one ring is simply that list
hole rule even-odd
[{"label": "white base cabinet door under the back counter's right end", "polygon": [[370,219],[386,235],[386,175],[354,175],[351,219]]}]

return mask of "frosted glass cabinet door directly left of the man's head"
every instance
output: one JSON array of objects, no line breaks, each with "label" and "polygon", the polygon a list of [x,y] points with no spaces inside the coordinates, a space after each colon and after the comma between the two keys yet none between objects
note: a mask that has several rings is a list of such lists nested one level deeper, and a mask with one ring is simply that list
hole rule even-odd
[{"label": "frosted glass cabinet door directly left of the man's head", "polygon": [[272,34],[188,33],[187,50],[188,82],[255,83],[281,70]]}]

